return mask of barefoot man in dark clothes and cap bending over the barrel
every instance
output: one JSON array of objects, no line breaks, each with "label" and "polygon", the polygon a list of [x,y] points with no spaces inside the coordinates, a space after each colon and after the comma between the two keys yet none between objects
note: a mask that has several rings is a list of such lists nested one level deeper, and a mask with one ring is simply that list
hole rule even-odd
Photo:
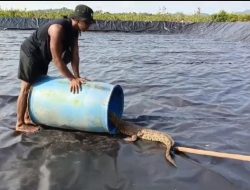
[{"label": "barefoot man in dark clothes and cap bending over the barrel", "polygon": [[[77,5],[69,19],[46,23],[22,43],[18,68],[21,90],[17,100],[16,131],[34,133],[39,130],[39,126],[29,118],[27,98],[32,84],[40,76],[47,75],[52,59],[59,72],[70,81],[70,91],[78,93],[81,90],[81,84],[86,79],[79,74],[78,36],[80,32],[88,30],[93,22],[93,10],[86,5]],[[66,65],[69,61],[73,73]]]}]

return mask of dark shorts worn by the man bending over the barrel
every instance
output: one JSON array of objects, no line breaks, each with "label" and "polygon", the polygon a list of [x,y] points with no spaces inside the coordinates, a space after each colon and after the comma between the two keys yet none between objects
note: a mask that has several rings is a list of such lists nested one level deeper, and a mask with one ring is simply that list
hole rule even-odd
[{"label": "dark shorts worn by the man bending over the barrel", "polygon": [[20,49],[20,61],[18,78],[28,83],[33,83],[41,75],[47,75],[48,63],[45,63],[39,49],[31,49],[28,52]]}]

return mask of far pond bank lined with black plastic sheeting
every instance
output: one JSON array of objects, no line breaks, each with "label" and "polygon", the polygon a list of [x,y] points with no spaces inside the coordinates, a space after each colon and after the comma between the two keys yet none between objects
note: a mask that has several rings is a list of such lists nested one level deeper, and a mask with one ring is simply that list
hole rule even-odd
[{"label": "far pond bank lined with black plastic sheeting", "polygon": [[[35,30],[49,19],[0,18],[0,30]],[[227,41],[250,41],[250,22],[181,23],[97,21],[89,31],[189,34]]]}]

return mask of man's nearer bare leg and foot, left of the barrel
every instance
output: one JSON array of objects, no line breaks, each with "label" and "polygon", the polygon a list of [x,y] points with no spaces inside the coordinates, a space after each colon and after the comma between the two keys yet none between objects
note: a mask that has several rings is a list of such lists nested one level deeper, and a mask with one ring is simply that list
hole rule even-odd
[{"label": "man's nearer bare leg and foot, left of the barrel", "polygon": [[34,125],[25,124],[25,112],[27,110],[27,99],[30,90],[31,84],[22,80],[21,82],[21,91],[17,99],[17,123],[16,131],[34,133],[39,130],[39,127]]}]

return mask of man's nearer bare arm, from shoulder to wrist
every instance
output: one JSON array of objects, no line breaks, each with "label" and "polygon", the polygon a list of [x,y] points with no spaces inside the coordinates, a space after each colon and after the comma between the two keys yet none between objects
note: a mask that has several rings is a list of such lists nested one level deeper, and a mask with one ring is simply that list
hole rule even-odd
[{"label": "man's nearer bare arm, from shoulder to wrist", "polygon": [[70,72],[66,64],[62,60],[62,41],[63,41],[63,27],[59,24],[53,24],[49,27],[48,33],[50,35],[50,50],[52,59],[56,67],[62,73],[63,76],[67,77],[70,81],[75,77]]}]

